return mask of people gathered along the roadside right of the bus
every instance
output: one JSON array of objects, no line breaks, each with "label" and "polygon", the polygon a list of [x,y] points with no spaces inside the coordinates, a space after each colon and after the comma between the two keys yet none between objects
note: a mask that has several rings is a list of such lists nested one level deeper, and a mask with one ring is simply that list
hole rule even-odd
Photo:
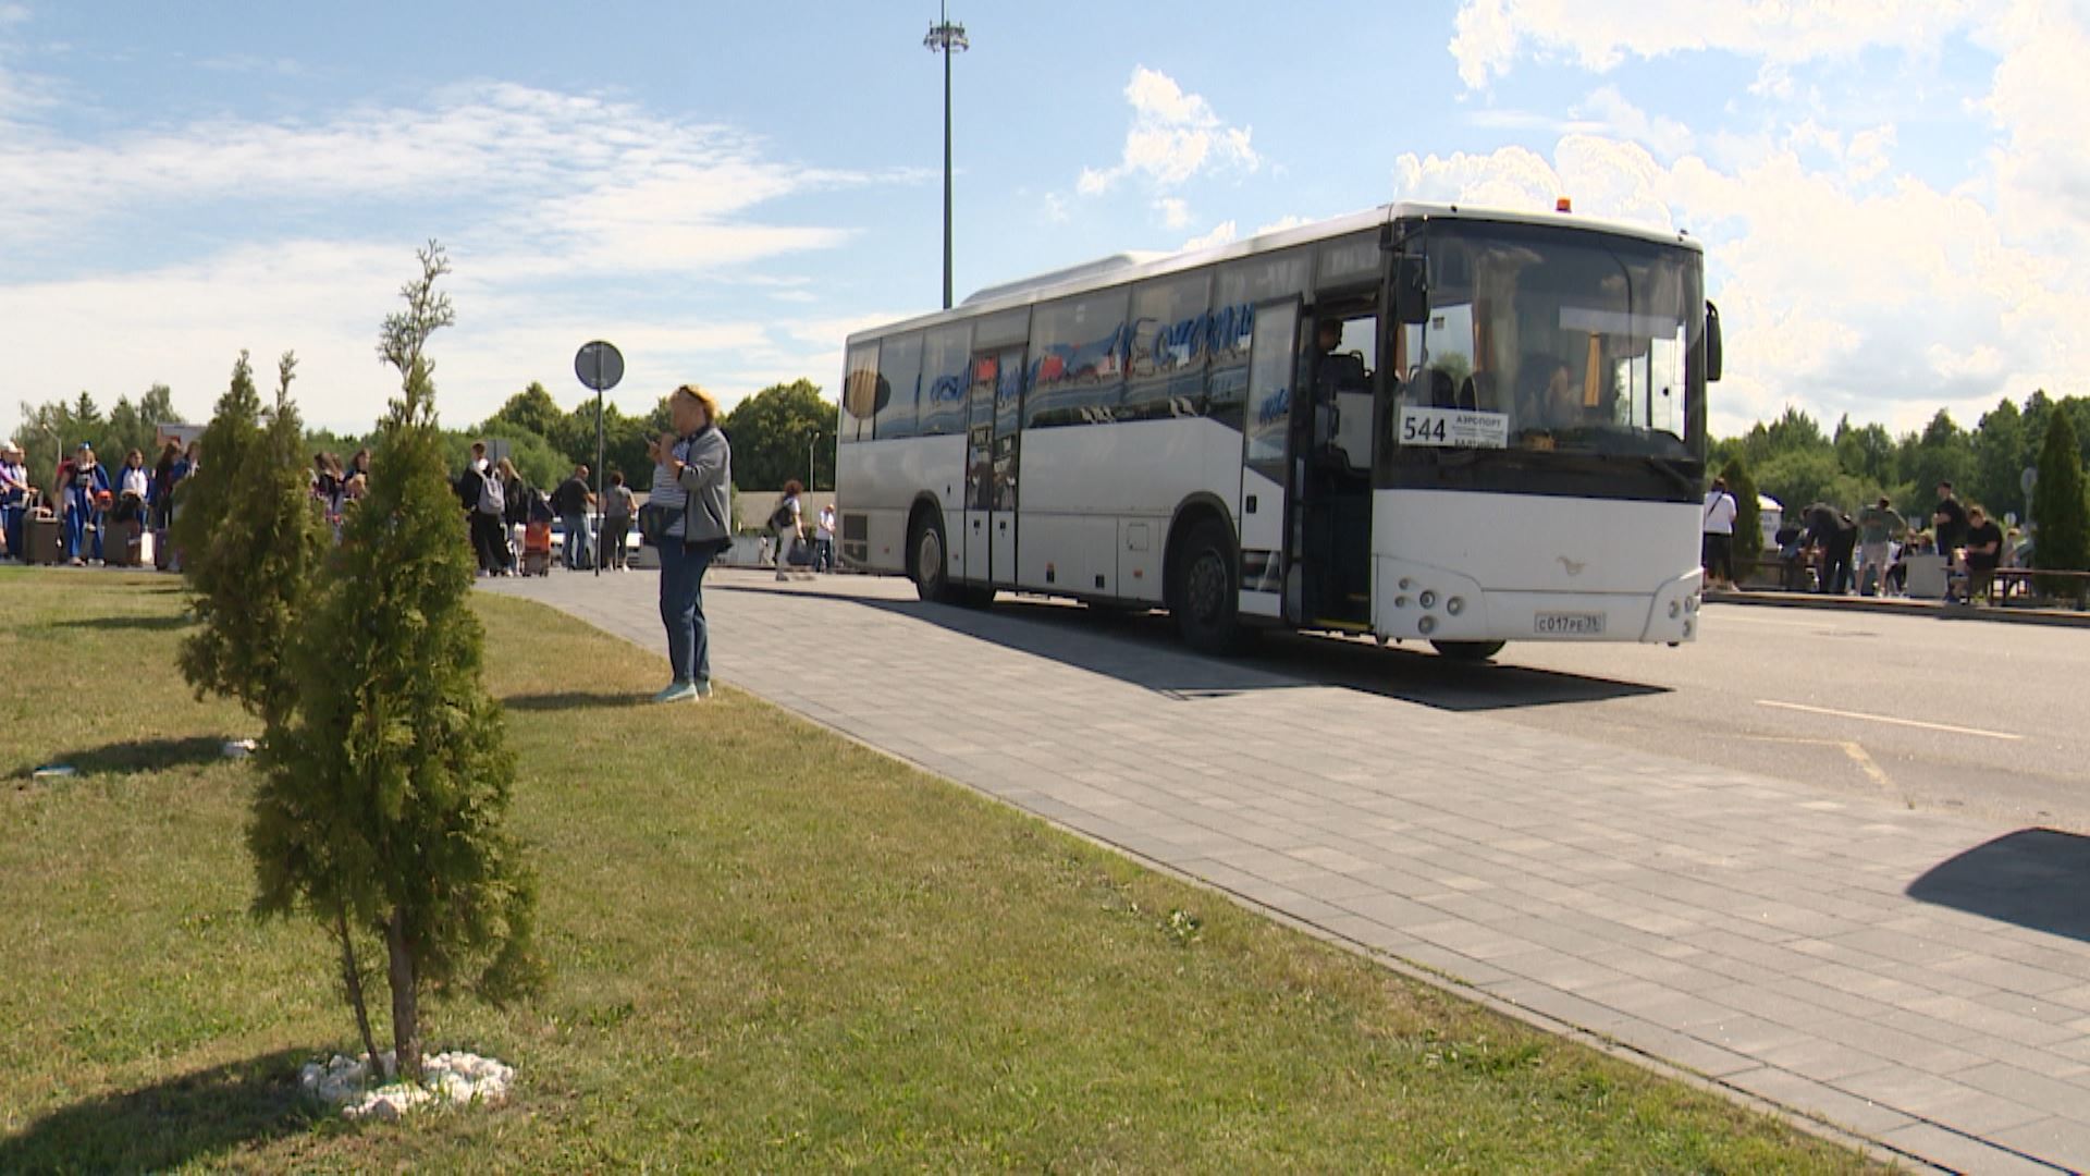
[{"label": "people gathered along the roadside right of the bus", "polygon": [[[1703,567],[1705,584],[1735,584],[1735,496],[1724,479],[1705,494]],[[1772,536],[1779,546],[1781,588],[1887,596],[1908,590],[1910,557],[1944,557],[1944,598],[1973,603],[1985,596],[2002,567],[2029,561],[2029,540],[2015,527],[2006,534],[1981,504],[1960,502],[1950,481],[1937,483],[1937,504],[1929,529],[1910,525],[1887,498],[1852,517],[1827,502],[1814,502],[1789,517]]]}]

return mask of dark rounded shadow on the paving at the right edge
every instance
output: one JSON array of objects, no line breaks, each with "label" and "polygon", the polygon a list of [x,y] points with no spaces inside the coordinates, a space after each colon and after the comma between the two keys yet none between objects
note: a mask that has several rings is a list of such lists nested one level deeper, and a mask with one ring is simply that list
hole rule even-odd
[{"label": "dark rounded shadow on the paving at the right edge", "polygon": [[1931,866],[1908,898],[2090,942],[2090,837],[2019,829]]}]

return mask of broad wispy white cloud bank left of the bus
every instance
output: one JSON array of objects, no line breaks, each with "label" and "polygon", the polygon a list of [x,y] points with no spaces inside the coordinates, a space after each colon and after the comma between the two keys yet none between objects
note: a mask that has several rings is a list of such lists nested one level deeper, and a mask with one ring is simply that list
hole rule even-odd
[{"label": "broad wispy white cloud bank left of the bus", "polygon": [[[732,289],[750,266],[851,236],[849,226],[765,224],[754,213],[769,201],[913,178],[805,167],[732,128],[522,86],[451,88],[318,123],[224,119],[107,142],[6,130],[0,255],[42,264],[0,274],[0,322],[69,360],[48,379],[17,370],[0,400],[79,387],[113,400],[165,381],[184,412],[205,414],[240,347],[295,347],[307,421],[355,429],[393,389],[376,362],[376,322],[395,306],[418,236],[316,234],[314,222],[332,222],[343,201],[451,247],[458,326],[431,349],[445,419],[472,421],[531,379],[568,400],[577,389],[554,381],[581,339],[604,335],[629,360],[612,398],[635,408],[692,377],[732,402],[759,385],[738,387],[729,372],[754,366],[828,377],[840,335],[805,339],[788,320],[750,318],[729,295],[711,303],[725,314],[698,301],[683,322],[658,322],[648,299],[688,291],[692,276],[711,293]],[[247,245],[109,272],[77,255],[119,255],[134,239],[209,241],[180,226],[226,216],[247,218]],[[819,293],[784,287],[775,301],[813,318]]]}]

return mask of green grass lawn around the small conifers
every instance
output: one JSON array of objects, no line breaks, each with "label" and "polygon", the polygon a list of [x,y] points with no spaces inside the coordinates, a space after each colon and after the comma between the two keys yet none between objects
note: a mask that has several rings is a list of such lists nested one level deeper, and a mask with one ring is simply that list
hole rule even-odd
[{"label": "green grass lawn around the small conifers", "polygon": [[173,670],[173,580],[0,571],[0,1172],[1862,1166],[748,695],[640,705],[658,653],[508,598],[489,684],[554,977],[426,1040],[514,1099],[326,1120],[295,1071],[355,1030],[328,940],[247,914],[219,743],[253,724]]}]

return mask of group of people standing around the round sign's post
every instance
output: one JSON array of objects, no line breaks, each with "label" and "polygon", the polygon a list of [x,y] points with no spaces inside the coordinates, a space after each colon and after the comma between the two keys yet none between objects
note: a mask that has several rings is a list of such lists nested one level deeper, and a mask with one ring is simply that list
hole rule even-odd
[{"label": "group of people standing around the round sign's post", "polygon": [[[589,469],[573,467],[552,494],[533,488],[508,458],[487,460],[485,442],[472,444],[472,458],[456,479],[458,502],[470,525],[472,552],[481,575],[514,575],[518,571],[518,536],[529,542],[531,527],[558,519],[566,534],[566,571],[585,571],[602,563],[604,571],[631,567],[627,540],[635,498],[623,473],[610,473],[602,494],[587,485]],[[602,529],[596,532],[600,506]]]}]

